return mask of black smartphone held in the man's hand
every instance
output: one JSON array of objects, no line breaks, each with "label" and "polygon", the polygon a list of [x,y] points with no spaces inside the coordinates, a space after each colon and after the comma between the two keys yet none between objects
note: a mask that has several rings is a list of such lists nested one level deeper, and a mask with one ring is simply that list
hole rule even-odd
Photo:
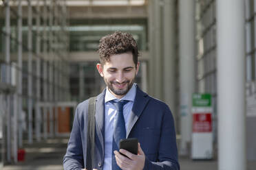
[{"label": "black smartphone held in the man's hand", "polygon": [[132,154],[138,154],[138,139],[137,138],[125,138],[119,142],[119,149],[125,149]]}]

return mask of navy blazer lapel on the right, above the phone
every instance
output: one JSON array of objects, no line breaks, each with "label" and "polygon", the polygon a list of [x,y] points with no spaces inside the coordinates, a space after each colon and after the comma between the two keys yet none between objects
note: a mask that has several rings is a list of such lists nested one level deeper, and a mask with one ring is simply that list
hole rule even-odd
[{"label": "navy blazer lapel on the right, above the phone", "polygon": [[144,110],[145,106],[147,105],[147,102],[149,101],[149,97],[146,93],[142,92],[140,88],[136,89],[136,97],[134,99],[134,106],[131,109],[131,115],[129,117],[129,123],[126,133],[126,138],[128,138],[129,133],[131,132],[132,127],[134,127],[134,124],[140,117],[140,114]]}]

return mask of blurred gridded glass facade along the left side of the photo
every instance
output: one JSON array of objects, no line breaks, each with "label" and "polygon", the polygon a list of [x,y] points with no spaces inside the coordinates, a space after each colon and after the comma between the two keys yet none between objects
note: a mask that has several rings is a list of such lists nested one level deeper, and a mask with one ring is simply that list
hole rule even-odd
[{"label": "blurred gridded glass facade along the left side of the photo", "polygon": [[0,158],[16,162],[23,140],[43,133],[37,104],[70,99],[67,12],[65,1],[0,4]]}]

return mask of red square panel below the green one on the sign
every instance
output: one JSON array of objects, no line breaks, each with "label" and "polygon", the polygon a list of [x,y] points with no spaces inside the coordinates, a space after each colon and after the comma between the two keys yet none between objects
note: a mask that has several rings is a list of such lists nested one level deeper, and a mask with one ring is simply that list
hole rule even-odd
[{"label": "red square panel below the green one on the sign", "polygon": [[212,132],[211,113],[193,113],[193,132]]}]

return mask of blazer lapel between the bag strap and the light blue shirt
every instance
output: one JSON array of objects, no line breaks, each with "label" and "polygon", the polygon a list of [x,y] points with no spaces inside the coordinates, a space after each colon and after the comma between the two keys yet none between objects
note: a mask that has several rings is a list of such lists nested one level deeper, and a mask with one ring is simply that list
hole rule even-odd
[{"label": "blazer lapel between the bag strap and the light blue shirt", "polygon": [[104,112],[105,112],[105,90],[103,93],[100,93],[96,99],[96,113],[95,113],[95,127],[96,127],[96,133],[98,134],[98,138],[100,140],[101,148],[104,152],[104,134],[105,134],[105,128],[104,128]]}]

